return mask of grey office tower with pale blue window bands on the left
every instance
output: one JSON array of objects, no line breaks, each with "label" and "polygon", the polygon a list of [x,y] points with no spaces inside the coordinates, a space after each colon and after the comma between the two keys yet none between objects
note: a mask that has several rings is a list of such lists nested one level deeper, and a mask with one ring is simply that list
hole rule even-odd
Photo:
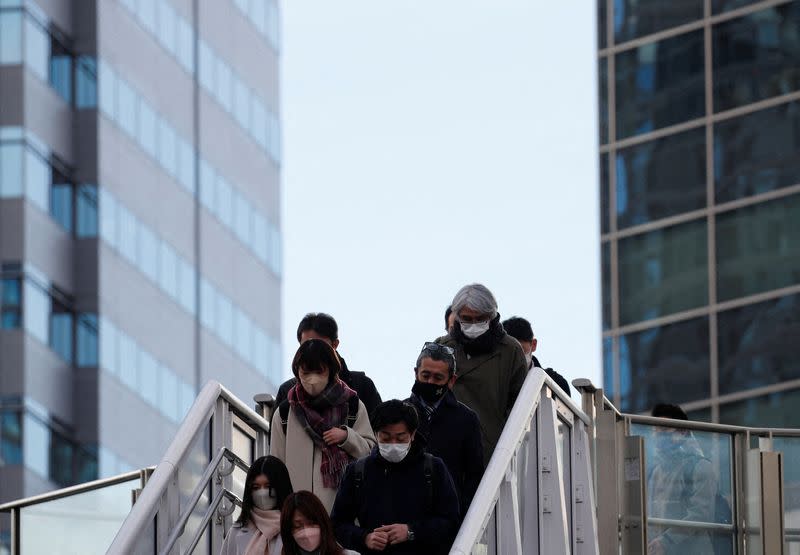
[{"label": "grey office tower with pale blue window bands on the left", "polygon": [[157,463],[209,379],[275,389],[279,30],[0,1],[0,502]]}]

